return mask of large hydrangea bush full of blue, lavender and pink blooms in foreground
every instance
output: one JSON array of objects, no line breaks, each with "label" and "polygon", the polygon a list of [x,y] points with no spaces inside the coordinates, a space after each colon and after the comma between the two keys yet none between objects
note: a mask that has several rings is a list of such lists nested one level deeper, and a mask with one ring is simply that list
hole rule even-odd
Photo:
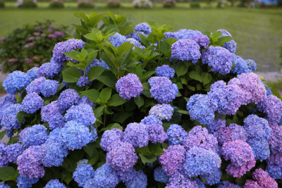
[{"label": "large hydrangea bush full of blue, lavender and pink blooms in foreground", "polygon": [[4,81],[1,187],[281,187],[282,101],[226,30],[75,16]]}]

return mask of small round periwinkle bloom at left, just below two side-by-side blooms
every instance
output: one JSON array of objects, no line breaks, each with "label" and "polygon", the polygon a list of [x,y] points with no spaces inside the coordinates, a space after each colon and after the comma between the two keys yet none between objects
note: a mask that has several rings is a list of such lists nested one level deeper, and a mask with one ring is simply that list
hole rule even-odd
[{"label": "small round periwinkle bloom at left, just below two side-by-side blooms", "polygon": [[43,107],[43,99],[37,93],[30,93],[23,99],[23,111],[26,113],[35,113]]}]

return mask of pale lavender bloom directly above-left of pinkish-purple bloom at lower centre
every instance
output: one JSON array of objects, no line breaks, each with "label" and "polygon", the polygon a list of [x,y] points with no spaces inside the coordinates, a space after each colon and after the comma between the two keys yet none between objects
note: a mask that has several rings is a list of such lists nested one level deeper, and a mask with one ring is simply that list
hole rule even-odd
[{"label": "pale lavender bloom directly above-left of pinkish-purple bloom at lower centre", "polygon": [[116,144],[121,141],[122,137],[123,132],[118,128],[106,130],[102,135],[100,146],[102,146],[104,151],[111,151],[111,148],[116,146]]}]

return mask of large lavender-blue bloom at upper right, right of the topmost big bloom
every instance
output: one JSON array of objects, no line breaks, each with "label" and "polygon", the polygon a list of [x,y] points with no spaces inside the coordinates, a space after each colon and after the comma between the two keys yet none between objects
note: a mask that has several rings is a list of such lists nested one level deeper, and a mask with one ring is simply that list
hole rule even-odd
[{"label": "large lavender-blue bloom at upper right, right of the topmost big bloom", "polygon": [[226,75],[232,68],[232,54],[227,49],[220,46],[209,46],[202,52],[202,63],[212,67],[213,72]]}]

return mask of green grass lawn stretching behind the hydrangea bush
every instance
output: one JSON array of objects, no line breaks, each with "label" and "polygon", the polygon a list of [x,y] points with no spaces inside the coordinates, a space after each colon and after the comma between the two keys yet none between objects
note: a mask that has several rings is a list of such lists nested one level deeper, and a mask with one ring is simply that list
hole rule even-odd
[{"label": "green grass lawn stretching behind the hydrangea bush", "polygon": [[[76,4],[66,3],[66,8],[51,10],[48,3],[40,3],[37,9],[15,8],[15,4],[6,4],[7,8],[0,10],[0,37],[8,35],[14,28],[26,23],[35,23],[35,20],[56,20],[55,25],[79,23],[73,16]],[[161,4],[154,4],[153,9],[138,10],[130,8],[131,4],[122,4],[122,8],[107,9],[106,4],[97,3],[92,10],[85,9],[86,13],[93,11],[114,11],[126,13],[134,23],[155,20],[158,23],[167,23],[173,30],[181,28],[200,29],[213,32],[217,29],[226,29],[238,43],[236,54],[243,58],[252,58],[259,64],[260,71],[278,70],[279,46],[282,46],[282,9],[247,9],[247,8],[208,8],[203,4],[202,9],[190,9],[189,4],[178,4],[177,8],[164,9]],[[212,4],[216,6],[216,4]]]}]

